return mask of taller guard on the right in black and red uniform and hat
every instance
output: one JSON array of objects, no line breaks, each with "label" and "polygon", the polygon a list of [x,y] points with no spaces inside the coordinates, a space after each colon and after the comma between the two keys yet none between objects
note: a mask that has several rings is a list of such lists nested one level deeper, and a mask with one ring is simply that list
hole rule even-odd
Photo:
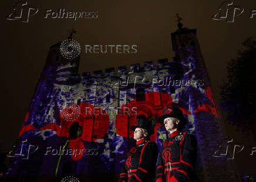
[{"label": "taller guard on the right in black and red uniform and hat", "polygon": [[195,181],[193,170],[197,142],[194,135],[180,132],[186,124],[182,111],[179,108],[164,109],[159,121],[170,132],[170,138],[161,146],[155,181]]}]

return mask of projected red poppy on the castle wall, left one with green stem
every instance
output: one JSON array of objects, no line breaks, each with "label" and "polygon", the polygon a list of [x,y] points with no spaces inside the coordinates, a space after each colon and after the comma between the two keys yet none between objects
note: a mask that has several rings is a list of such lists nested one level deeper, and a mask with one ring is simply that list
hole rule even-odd
[{"label": "projected red poppy on the castle wall, left one with green stem", "polygon": [[[67,112],[66,117],[63,117],[63,114],[60,114],[61,128],[59,125],[56,125],[56,123],[49,123],[40,130],[52,129],[53,131],[56,131],[59,136],[70,138],[70,127],[77,122],[82,128],[82,135],[78,136],[76,139],[70,139],[69,148],[72,149],[72,151],[75,151],[72,153],[72,159],[79,160],[85,153],[83,141],[95,142],[97,139],[105,136],[107,130],[109,129],[109,116],[105,110],[95,108],[93,105],[81,102],[79,116],[73,117],[73,115],[77,114],[74,112],[78,111],[75,107],[77,107],[77,105],[73,104],[65,110],[65,112]],[[69,112],[71,111],[70,108],[72,108],[72,112]],[[70,118],[75,119],[71,120]]]}]

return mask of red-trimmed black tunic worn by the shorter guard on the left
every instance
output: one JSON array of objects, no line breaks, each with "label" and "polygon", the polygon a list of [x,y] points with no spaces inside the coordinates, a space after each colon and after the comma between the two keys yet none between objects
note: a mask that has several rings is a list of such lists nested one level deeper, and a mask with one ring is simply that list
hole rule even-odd
[{"label": "red-trimmed black tunic worn by the shorter guard on the left", "polygon": [[124,162],[119,182],[146,182],[154,180],[157,162],[157,145],[155,142],[141,139],[132,147]]}]

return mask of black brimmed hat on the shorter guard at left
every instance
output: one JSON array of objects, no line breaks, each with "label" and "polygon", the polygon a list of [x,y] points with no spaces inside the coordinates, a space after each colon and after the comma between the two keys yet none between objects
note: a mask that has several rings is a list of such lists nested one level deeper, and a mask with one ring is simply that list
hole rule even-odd
[{"label": "black brimmed hat on the shorter guard at left", "polygon": [[131,126],[132,131],[135,131],[136,128],[146,129],[148,136],[154,133],[152,122],[144,115],[137,116],[135,126]]}]

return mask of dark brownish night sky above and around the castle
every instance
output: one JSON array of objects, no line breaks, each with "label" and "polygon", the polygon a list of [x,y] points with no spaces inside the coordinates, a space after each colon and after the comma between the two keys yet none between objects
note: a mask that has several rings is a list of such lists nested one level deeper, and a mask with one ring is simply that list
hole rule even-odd
[{"label": "dark brownish night sky above and around the castle", "polygon": [[[250,10],[256,9],[256,1],[234,1],[244,8],[244,13],[234,23],[211,19],[218,13],[221,1],[28,1],[39,12],[28,23],[6,20],[18,1],[1,1],[1,131],[0,152],[8,152],[18,138],[23,119],[28,110],[33,91],[45,64],[49,47],[68,37],[72,28],[74,39],[82,46],[79,73],[127,66],[133,63],[169,58],[174,53],[170,33],[177,29],[176,13],[184,20],[183,25],[197,29],[197,37],[206,61],[217,103],[220,88],[227,77],[226,66],[237,55],[237,49],[246,37],[256,37],[256,16],[250,19]],[[97,19],[45,19],[45,9],[70,11],[98,11]],[[85,44],[137,44],[136,54],[85,54]],[[247,89],[247,88],[245,88]],[[223,117],[224,118],[224,117]],[[224,121],[224,119],[223,119]],[[235,126],[225,127],[229,138],[247,145],[237,154],[238,169],[249,173],[252,164],[248,146],[256,146],[252,136],[238,132]],[[247,151],[248,150],[248,151]],[[243,159],[243,160],[242,160]],[[250,166],[250,165],[249,165]],[[245,171],[247,170],[247,171]]]}]

